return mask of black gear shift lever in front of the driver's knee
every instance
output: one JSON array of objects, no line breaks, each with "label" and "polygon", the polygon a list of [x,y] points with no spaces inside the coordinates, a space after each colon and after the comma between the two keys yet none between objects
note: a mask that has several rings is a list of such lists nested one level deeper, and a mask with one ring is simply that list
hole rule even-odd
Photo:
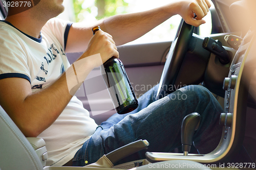
[{"label": "black gear shift lever in front of the driver's knee", "polygon": [[181,125],[181,143],[184,156],[188,155],[192,145],[194,132],[198,129],[200,124],[200,114],[190,113],[183,118]]}]

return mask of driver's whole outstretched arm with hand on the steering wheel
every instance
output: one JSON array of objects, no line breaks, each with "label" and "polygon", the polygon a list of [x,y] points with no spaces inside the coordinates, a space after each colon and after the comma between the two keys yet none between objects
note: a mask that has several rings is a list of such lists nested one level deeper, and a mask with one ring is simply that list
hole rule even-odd
[{"label": "driver's whole outstretched arm with hand on the steering wheel", "polygon": [[[99,20],[93,25],[73,23],[70,28],[66,52],[82,52],[92,37],[92,28],[100,26],[105,32],[113,36],[116,45],[133,41],[173,15],[179,14],[190,25],[200,26],[205,21],[202,19],[209,11],[210,0],[186,0],[170,3],[166,6],[152,10],[115,15]],[[194,19],[194,13],[197,17]]]}]

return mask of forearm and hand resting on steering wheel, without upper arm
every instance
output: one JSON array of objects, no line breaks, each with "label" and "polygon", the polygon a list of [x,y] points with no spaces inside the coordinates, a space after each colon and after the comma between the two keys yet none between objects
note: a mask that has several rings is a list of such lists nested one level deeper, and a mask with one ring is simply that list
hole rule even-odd
[{"label": "forearm and hand resting on steering wheel, without upper arm", "polygon": [[[113,36],[117,45],[133,41],[173,15],[179,14],[186,23],[200,26],[209,11],[209,0],[180,0],[152,10],[116,15],[102,20],[102,30]],[[194,13],[197,15],[194,18]]]}]

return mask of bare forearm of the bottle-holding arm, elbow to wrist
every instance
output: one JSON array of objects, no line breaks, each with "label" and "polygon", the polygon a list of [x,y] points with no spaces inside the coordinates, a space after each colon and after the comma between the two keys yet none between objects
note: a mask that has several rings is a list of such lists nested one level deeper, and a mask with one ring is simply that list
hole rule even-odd
[{"label": "bare forearm of the bottle-holding arm, elbow to wrist", "polygon": [[55,82],[29,94],[11,110],[11,118],[24,135],[36,137],[51,126],[93,68],[89,59],[76,61]]}]

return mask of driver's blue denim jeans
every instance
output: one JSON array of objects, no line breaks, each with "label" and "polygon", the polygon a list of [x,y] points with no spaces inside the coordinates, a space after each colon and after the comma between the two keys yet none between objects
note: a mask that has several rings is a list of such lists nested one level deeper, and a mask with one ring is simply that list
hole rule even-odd
[{"label": "driver's blue denim jeans", "polygon": [[[156,100],[158,86],[144,93],[139,107],[124,115],[114,114],[97,128],[92,137],[77,151],[73,166],[96,162],[102,155],[130,142],[146,139],[147,150],[130,155],[118,163],[145,158],[145,152],[170,152],[181,146],[181,123],[190,113],[201,115],[193,141],[200,154],[213,151],[219,144],[223,112],[215,97],[202,86],[186,86]],[[85,163],[85,161],[87,163]]]}]

